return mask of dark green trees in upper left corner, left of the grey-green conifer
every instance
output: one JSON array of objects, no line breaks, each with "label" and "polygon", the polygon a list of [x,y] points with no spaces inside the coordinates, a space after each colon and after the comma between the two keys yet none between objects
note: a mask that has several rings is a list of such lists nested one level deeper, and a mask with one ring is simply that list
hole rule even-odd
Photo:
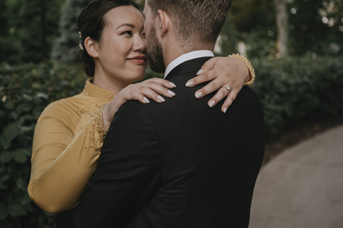
[{"label": "dark green trees in upper left corner, left of the grey-green conifer", "polygon": [[0,1],[0,62],[40,62],[58,36],[64,0]]}]

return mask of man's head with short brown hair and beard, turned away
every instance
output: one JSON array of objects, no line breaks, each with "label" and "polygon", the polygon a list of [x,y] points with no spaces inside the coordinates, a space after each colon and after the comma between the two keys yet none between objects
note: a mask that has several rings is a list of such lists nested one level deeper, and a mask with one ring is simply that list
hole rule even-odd
[{"label": "man's head with short brown hair and beard, turned away", "polygon": [[[179,47],[187,50],[202,46],[213,49],[231,3],[232,0],[146,0],[145,33],[152,69],[156,64],[161,65],[161,62],[164,65],[162,56],[156,56],[161,55],[163,50],[160,38],[163,38],[164,32],[156,34],[156,30],[163,30],[160,21],[167,20],[170,23],[168,31],[172,30]],[[161,72],[162,69],[157,71]]]}]

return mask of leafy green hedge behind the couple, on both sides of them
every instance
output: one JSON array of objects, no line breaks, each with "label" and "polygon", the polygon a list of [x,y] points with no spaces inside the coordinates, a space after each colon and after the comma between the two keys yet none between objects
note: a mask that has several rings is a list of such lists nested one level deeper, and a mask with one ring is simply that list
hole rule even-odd
[{"label": "leafy green hedge behind the couple, on both sides of them", "polygon": [[[294,122],[342,115],[343,57],[252,62],[257,73],[252,88],[261,97],[269,139]],[[27,194],[34,127],[51,101],[79,93],[86,78],[76,66],[0,65],[1,228],[53,227],[55,216]]]}]

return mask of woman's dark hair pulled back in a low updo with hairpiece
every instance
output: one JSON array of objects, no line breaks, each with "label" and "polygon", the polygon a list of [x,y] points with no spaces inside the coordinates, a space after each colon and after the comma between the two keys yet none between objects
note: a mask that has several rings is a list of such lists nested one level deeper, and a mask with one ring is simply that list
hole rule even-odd
[{"label": "woman's dark hair pulled back in a low updo with hairpiece", "polygon": [[139,4],[131,0],[95,0],[89,3],[78,17],[78,28],[81,32],[80,44],[83,50],[78,51],[78,60],[85,67],[87,75],[93,77],[95,70],[95,63],[93,57],[88,55],[84,48],[84,41],[86,37],[91,37],[95,41],[99,41],[106,21],[104,15],[116,7],[122,5],[132,5],[138,10],[141,10]]}]

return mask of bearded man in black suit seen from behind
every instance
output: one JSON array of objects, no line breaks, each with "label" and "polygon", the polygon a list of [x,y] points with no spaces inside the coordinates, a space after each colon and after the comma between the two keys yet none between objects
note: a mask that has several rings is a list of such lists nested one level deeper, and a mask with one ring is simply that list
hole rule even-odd
[{"label": "bearded man in black suit seen from behind", "polygon": [[176,96],[122,105],[80,205],[58,227],[248,227],[264,153],[260,100],[244,87],[223,113],[194,97],[203,85],[185,86],[213,56],[230,5],[145,1],[151,68],[165,71]]}]

